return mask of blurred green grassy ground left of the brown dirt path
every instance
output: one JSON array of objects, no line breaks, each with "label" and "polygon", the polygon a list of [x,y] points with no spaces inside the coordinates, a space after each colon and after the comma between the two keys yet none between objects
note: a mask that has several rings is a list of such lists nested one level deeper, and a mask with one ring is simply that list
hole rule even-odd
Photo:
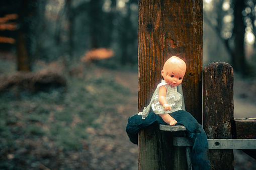
[{"label": "blurred green grassy ground left of the brown dirt path", "polygon": [[0,168],[18,168],[15,161],[24,156],[21,149],[30,152],[25,154],[26,161],[40,160],[42,155],[31,153],[35,146],[29,140],[40,140],[34,142],[39,148],[53,145],[59,151],[81,150],[83,140],[89,137],[87,128],[102,128],[104,115],[117,112],[116,106],[130,95],[129,89],[96,66],[88,66],[80,77],[67,76],[67,80],[65,93],[52,89],[0,95]]}]

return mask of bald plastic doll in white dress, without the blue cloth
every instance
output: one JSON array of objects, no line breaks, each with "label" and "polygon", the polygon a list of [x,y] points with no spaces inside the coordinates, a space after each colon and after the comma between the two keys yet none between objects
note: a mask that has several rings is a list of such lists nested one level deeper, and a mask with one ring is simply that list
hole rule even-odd
[{"label": "bald plastic doll in white dress, without the blue cloth", "polygon": [[186,72],[186,63],[176,57],[170,57],[163,65],[161,75],[164,80],[157,85],[150,104],[144,108],[142,119],[145,119],[150,106],[155,114],[158,114],[165,123],[175,125],[177,121],[167,113],[182,110],[182,95],[177,92],[177,86],[182,83]]}]

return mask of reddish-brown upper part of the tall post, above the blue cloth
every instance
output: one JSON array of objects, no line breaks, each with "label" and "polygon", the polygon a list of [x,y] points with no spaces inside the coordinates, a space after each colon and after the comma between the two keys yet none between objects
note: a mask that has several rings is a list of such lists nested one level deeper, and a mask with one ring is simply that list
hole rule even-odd
[{"label": "reddish-brown upper part of the tall post, above the blue cloth", "polygon": [[202,116],[202,1],[139,1],[138,110],[150,102],[164,62],[173,55],[187,64],[185,105],[199,122]]}]

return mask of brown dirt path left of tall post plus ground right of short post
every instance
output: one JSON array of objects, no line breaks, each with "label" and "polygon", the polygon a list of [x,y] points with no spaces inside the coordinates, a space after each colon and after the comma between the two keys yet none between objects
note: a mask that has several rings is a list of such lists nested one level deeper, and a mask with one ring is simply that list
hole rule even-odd
[{"label": "brown dirt path left of tall post plus ground right of short post", "polygon": [[[118,113],[106,115],[104,129],[87,129],[92,134],[90,162],[92,169],[138,169],[137,145],[132,144],[125,132],[127,119],[137,112],[137,73],[110,71],[116,81],[130,88],[127,103],[118,106]],[[241,92],[243,87],[249,88]],[[238,78],[234,81],[235,118],[256,117],[255,97],[251,95],[254,86]],[[255,94],[255,93],[254,93]],[[254,99],[252,99],[254,97]],[[256,169],[256,160],[240,150],[234,150],[235,169]]]}]

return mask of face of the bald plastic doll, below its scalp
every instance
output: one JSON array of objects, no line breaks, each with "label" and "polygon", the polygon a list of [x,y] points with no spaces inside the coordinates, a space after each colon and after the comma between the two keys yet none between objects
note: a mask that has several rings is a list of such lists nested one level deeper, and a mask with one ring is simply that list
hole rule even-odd
[{"label": "face of the bald plastic doll, below its scalp", "polygon": [[168,63],[161,71],[161,75],[166,83],[172,86],[179,86],[182,83],[186,72],[185,63]]}]

